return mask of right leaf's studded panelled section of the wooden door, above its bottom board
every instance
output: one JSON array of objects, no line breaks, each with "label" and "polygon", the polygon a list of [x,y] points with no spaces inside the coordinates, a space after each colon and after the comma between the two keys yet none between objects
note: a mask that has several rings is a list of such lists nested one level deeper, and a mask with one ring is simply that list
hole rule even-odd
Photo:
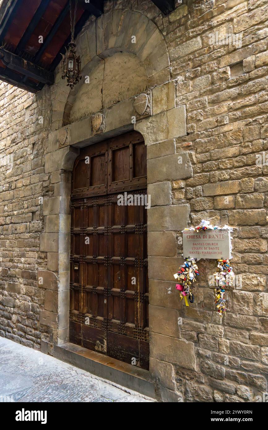
[{"label": "right leaf's studded panelled section of the wooden door, above its bottom board", "polygon": [[[132,194],[145,192],[138,190]],[[143,307],[148,263],[144,252],[146,221],[142,209],[142,206],[118,206],[117,194],[111,196],[108,215],[111,226],[111,235],[108,236],[108,254],[111,257],[108,267],[108,331],[146,340],[148,330],[145,330]]]}]

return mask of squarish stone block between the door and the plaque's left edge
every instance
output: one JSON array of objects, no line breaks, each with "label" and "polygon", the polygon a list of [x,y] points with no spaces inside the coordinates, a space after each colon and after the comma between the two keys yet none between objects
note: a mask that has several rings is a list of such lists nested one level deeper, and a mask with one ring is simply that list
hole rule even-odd
[{"label": "squarish stone block between the door and the plaque's left edge", "polygon": [[149,231],[148,255],[174,257],[177,252],[177,240],[173,231]]}]

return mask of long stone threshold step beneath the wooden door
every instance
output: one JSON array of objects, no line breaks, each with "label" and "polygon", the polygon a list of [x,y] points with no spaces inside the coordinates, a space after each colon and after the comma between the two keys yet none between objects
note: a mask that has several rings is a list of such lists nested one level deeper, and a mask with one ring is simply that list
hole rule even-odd
[{"label": "long stone threshold step beneath the wooden door", "polygon": [[155,398],[154,384],[149,379],[149,371],[129,363],[108,357],[79,345],[65,343],[54,345],[54,355],[62,361],[86,370],[99,378],[137,391],[143,396]]}]

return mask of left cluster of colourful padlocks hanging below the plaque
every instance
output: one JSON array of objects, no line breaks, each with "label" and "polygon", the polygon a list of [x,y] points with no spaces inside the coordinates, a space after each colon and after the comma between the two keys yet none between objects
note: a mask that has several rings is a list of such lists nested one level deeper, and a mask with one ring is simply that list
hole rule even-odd
[{"label": "left cluster of colourful padlocks hanging below the plaque", "polygon": [[191,292],[191,287],[194,287],[195,278],[199,276],[196,258],[186,258],[184,264],[180,266],[178,273],[175,273],[173,276],[180,282],[180,284],[176,284],[176,290],[180,291],[181,300],[184,297],[186,306],[189,306],[188,300],[190,303],[194,303],[194,295]]}]

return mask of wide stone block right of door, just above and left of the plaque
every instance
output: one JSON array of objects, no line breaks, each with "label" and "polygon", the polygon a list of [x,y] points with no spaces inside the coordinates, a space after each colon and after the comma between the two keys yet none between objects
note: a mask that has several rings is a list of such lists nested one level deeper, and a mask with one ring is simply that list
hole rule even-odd
[{"label": "wide stone block right of door, just above and left of the plaque", "polygon": [[190,206],[159,206],[148,209],[148,231],[182,231],[188,227]]}]

